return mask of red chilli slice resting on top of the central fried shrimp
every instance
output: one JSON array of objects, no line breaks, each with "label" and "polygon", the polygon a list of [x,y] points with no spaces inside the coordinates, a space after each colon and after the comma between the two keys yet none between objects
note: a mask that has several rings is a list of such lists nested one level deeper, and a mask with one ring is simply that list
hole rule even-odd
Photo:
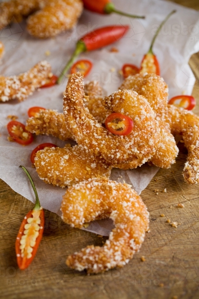
[{"label": "red chilli slice resting on top of the central fried shrimp", "polygon": [[105,126],[114,135],[129,135],[133,129],[133,120],[121,113],[112,113],[105,120]]}]

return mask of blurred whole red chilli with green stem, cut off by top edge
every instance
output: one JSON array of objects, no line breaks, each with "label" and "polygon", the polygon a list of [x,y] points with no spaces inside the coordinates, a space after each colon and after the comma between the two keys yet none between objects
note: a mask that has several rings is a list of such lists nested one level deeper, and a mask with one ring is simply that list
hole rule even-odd
[{"label": "blurred whole red chilli with green stem, cut off by top edge", "polygon": [[102,14],[118,13],[119,15],[127,16],[130,18],[145,19],[145,16],[131,15],[129,13],[123,13],[120,10],[116,10],[115,5],[109,0],[97,0],[97,1],[83,0],[83,3],[84,3],[84,8],[91,10],[95,13],[102,13]]}]

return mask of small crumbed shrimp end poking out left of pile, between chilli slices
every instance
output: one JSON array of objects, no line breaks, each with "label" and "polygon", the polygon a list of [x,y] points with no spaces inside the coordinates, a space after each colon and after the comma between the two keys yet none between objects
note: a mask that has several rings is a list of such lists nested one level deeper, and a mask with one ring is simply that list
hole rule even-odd
[{"label": "small crumbed shrimp end poking out left of pile, between chilli slices", "polygon": [[67,129],[64,114],[56,110],[41,110],[36,117],[28,118],[26,129],[36,135],[52,135],[61,140],[73,139]]}]

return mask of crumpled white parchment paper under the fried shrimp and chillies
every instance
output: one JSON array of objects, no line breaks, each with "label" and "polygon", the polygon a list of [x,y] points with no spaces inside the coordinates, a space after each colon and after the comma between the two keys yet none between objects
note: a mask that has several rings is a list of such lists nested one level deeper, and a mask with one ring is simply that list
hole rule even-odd
[{"label": "crumpled white parchment paper under the fried shrimp and chillies", "polygon": [[[140,65],[158,25],[171,10],[176,9],[177,13],[162,28],[155,42],[154,52],[160,62],[161,75],[169,85],[169,96],[181,93],[191,94],[195,77],[188,61],[193,53],[199,51],[199,13],[163,0],[115,0],[114,3],[118,9],[134,14],[144,14],[146,19],[129,19],[116,14],[107,16],[84,11],[75,28],[47,40],[34,39],[28,35],[25,21],[1,30],[0,40],[5,45],[5,55],[0,66],[1,75],[19,74],[44,59],[51,63],[53,73],[59,75],[79,37],[101,26],[128,24],[129,32],[114,45],[80,55],[80,59],[88,58],[94,64],[87,80],[98,80],[105,92],[110,94],[117,90],[122,82],[118,70],[124,63]],[[119,52],[111,53],[109,49],[112,46],[118,48]],[[49,56],[46,56],[46,51],[50,51]],[[63,147],[66,142],[49,136],[36,136],[32,144],[22,147],[17,143],[7,141],[6,125],[9,121],[8,115],[17,115],[18,120],[25,123],[27,110],[31,106],[43,106],[62,112],[62,99],[66,84],[67,78],[60,86],[36,91],[22,103],[16,101],[0,103],[0,178],[13,190],[34,202],[34,193],[30,183],[23,170],[19,168],[22,164],[33,177],[41,205],[59,215],[65,190],[45,184],[38,178],[36,170],[31,167],[30,154],[38,144],[52,142]],[[157,171],[157,167],[147,165],[127,171],[114,169],[111,179],[121,182],[124,180],[141,193]],[[109,219],[93,222],[87,228],[101,235],[109,235],[111,229],[112,222]]]}]

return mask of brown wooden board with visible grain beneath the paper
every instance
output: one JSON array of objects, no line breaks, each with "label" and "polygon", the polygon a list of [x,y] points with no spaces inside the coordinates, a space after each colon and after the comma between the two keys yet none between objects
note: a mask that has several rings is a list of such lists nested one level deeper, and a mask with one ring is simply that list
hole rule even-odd
[{"label": "brown wooden board with visible grain beneath the paper", "polygon": [[[174,2],[199,9],[198,0]],[[199,54],[193,55],[190,65],[199,78]],[[198,81],[193,94],[198,99],[195,112],[199,115]],[[47,210],[37,255],[29,269],[18,270],[15,238],[33,204],[0,181],[0,298],[198,299],[199,185],[184,182],[181,173],[185,161],[182,148],[176,164],[159,170],[141,194],[149,208],[151,229],[141,251],[123,269],[92,276],[70,270],[66,257],[88,244],[102,245],[105,238],[70,228]],[[167,193],[162,192],[165,188]],[[184,208],[177,208],[178,203]],[[173,228],[167,219],[181,224]]]}]

